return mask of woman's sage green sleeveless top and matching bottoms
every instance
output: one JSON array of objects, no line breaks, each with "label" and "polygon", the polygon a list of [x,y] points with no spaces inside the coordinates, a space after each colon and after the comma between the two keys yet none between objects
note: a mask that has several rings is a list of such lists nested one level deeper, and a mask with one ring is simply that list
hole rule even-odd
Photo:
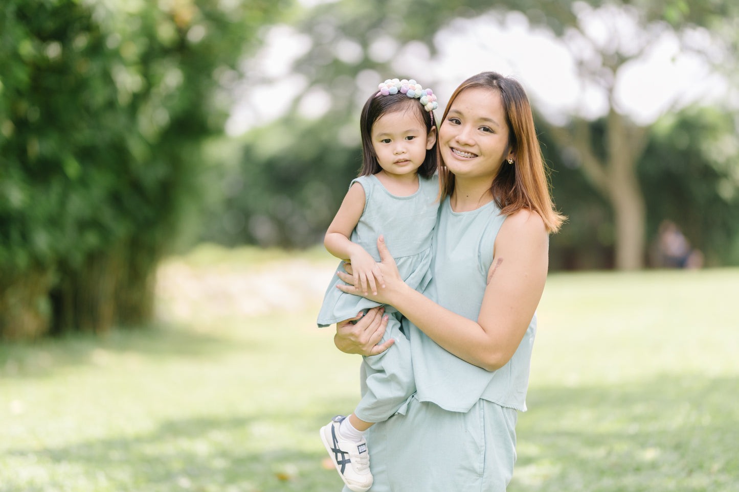
[{"label": "woman's sage green sleeveless top and matching bottoms", "polygon": [[[457,213],[445,199],[423,293],[477,320],[504,220],[494,202]],[[536,315],[511,360],[493,372],[442,349],[405,318],[403,324],[417,392],[365,434],[375,477],[370,491],[504,492],[516,461],[517,411],[526,409]]]}]

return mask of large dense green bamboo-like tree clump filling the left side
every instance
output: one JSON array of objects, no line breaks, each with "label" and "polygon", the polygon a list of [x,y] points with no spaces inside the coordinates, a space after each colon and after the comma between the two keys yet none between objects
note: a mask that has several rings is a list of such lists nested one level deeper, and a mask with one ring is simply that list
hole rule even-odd
[{"label": "large dense green bamboo-like tree clump filling the left side", "polygon": [[149,318],[223,80],[289,4],[4,1],[0,337]]}]

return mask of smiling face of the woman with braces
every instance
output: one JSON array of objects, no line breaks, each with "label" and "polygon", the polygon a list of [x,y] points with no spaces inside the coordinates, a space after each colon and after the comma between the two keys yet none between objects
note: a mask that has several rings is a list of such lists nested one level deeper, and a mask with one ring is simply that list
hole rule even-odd
[{"label": "smiling face of the woman with braces", "polygon": [[503,161],[514,159],[500,93],[486,87],[460,92],[441,122],[439,148],[454,177],[492,182]]}]

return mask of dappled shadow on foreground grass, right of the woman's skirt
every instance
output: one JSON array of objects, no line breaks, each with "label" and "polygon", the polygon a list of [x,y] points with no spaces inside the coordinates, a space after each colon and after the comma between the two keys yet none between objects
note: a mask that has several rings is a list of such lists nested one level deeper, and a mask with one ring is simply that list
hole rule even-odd
[{"label": "dappled shadow on foreground grass, right of the woman's skirt", "polygon": [[739,491],[732,377],[532,388],[509,492]]}]

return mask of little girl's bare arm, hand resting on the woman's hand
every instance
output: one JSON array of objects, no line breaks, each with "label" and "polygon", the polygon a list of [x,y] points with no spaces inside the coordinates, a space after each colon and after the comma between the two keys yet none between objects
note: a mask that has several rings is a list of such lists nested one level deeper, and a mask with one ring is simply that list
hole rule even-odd
[{"label": "little girl's bare arm, hand resting on the woman's hand", "polygon": [[364,188],[355,182],[347,191],[347,196],[341,202],[336,216],[331,225],[328,226],[324,237],[324,246],[333,256],[344,261],[349,261],[353,268],[353,284],[361,287],[361,293],[367,295],[369,284],[372,294],[377,293],[375,277],[382,281],[375,259],[367,253],[363,247],[350,241],[352,231],[357,226],[359,218],[364,212]]}]

